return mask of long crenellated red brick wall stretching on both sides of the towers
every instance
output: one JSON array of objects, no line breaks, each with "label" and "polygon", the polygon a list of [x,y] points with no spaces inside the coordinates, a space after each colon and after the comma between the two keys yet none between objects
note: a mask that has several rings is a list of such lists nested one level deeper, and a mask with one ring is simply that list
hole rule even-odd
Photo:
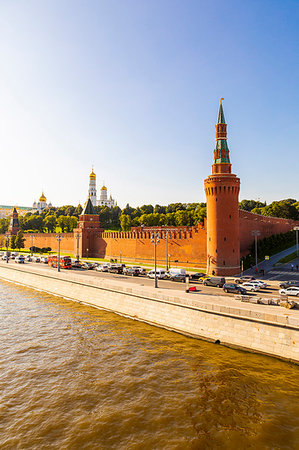
[{"label": "long crenellated red brick wall stretching on both sides of the towers", "polygon": [[[245,256],[249,253],[253,243],[253,230],[259,230],[260,239],[273,234],[286,233],[299,226],[299,221],[281,219],[278,217],[267,217],[239,210],[240,220],[240,254]],[[157,227],[152,227],[155,230]],[[171,227],[168,227],[171,229]],[[158,264],[166,264],[167,254],[170,265],[181,265],[184,267],[205,268],[207,264],[207,231],[206,223],[194,227],[173,227],[168,231],[169,238],[166,241],[166,232],[162,231],[160,242],[157,245]],[[32,245],[36,247],[51,247],[58,250],[56,233],[24,233],[25,248]],[[77,242],[75,233],[63,233],[61,240],[61,251],[75,254]],[[0,242],[5,245],[4,235],[0,235]],[[153,263],[154,244],[151,242],[151,231],[143,231],[142,228],[132,228],[128,232],[96,232],[92,240],[93,249],[89,249],[89,255],[99,258],[113,258],[127,260],[136,263]],[[177,262],[175,262],[177,261]]]}]

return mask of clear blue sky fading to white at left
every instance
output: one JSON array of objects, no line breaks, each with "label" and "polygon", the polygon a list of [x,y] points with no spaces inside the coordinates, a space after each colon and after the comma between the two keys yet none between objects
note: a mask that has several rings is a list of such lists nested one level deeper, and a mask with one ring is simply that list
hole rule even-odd
[{"label": "clear blue sky fading to white at left", "polygon": [[299,198],[297,0],[0,0],[0,204],[205,201],[220,97],[240,200]]}]

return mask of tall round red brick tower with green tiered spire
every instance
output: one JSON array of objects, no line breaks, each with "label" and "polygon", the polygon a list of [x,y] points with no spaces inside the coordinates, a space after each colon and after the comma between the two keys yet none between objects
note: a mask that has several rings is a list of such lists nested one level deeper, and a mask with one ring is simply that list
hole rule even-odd
[{"label": "tall round red brick tower with green tiered spire", "polygon": [[240,272],[240,178],[231,173],[222,100],[216,125],[212,175],[204,183],[207,196],[207,272],[225,276]]}]

